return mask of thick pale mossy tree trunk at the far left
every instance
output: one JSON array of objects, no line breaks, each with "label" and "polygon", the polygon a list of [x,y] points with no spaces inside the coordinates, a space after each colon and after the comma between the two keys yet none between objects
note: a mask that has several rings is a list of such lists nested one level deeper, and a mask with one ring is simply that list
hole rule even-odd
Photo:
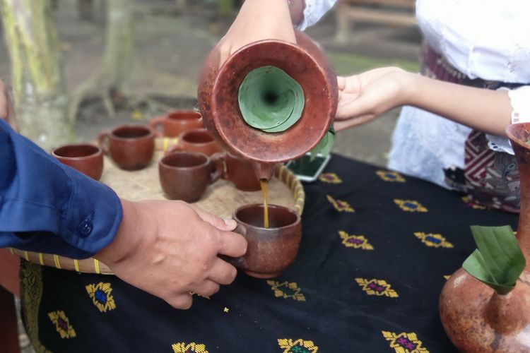
[{"label": "thick pale mossy tree trunk at the far left", "polygon": [[49,150],[75,139],[49,0],[0,0],[20,132]]}]

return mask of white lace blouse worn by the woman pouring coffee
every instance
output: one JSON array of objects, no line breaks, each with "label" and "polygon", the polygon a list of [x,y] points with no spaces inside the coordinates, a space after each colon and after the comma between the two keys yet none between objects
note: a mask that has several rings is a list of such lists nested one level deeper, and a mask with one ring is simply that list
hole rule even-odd
[{"label": "white lace blouse worn by the woman pouring coffee", "polygon": [[[334,2],[305,0],[301,28],[316,22]],[[418,25],[433,49],[469,78],[505,83],[530,84],[529,13],[528,0],[416,1]],[[530,86],[509,95],[512,121],[530,121]],[[448,187],[443,169],[464,168],[470,132],[442,116],[404,107],[392,136],[389,167]],[[488,138],[490,148],[512,152],[507,139]]]}]

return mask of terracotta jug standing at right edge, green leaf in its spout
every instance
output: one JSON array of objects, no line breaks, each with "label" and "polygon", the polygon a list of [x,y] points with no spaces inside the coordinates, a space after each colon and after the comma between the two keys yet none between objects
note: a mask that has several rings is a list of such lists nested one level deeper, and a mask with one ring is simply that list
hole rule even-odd
[{"label": "terracotta jug standing at right edge, green leaf in its spout", "polygon": [[514,124],[507,135],[519,165],[521,213],[517,240],[526,268],[512,292],[501,295],[463,268],[440,294],[445,332],[462,352],[530,352],[530,124]]}]

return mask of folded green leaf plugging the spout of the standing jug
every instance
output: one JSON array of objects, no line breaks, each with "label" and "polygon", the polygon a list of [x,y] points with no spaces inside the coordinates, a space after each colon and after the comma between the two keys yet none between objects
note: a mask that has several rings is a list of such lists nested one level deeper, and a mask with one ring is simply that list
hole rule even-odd
[{"label": "folded green leaf plugging the spout of the standing jug", "polygon": [[512,228],[471,226],[471,232],[478,249],[462,267],[499,294],[509,293],[526,266]]}]

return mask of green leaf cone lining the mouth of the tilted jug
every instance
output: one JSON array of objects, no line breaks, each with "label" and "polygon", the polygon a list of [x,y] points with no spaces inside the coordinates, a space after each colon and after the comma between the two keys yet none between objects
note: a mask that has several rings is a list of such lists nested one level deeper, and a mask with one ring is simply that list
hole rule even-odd
[{"label": "green leaf cone lining the mouth of the tilted jug", "polygon": [[268,133],[293,126],[304,110],[302,86],[274,66],[255,68],[243,80],[238,93],[243,119]]}]

